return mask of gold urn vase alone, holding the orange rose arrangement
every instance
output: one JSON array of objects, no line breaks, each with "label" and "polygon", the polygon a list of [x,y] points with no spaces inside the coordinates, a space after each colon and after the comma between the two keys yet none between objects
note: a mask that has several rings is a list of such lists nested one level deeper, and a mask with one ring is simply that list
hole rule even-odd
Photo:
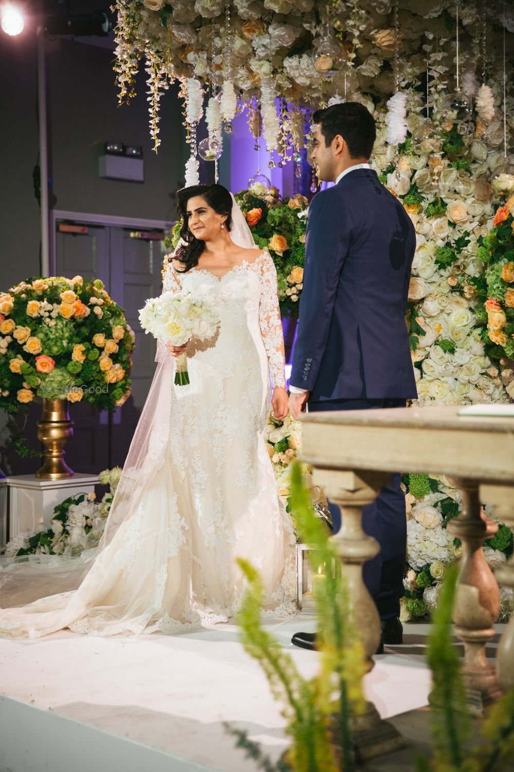
[{"label": "gold urn vase alone, holding the orange rose arrangement", "polygon": [[36,477],[58,480],[73,476],[72,469],[64,460],[64,446],[72,436],[73,422],[69,420],[68,401],[43,397],[38,439],[45,445],[45,463],[35,472]]}]

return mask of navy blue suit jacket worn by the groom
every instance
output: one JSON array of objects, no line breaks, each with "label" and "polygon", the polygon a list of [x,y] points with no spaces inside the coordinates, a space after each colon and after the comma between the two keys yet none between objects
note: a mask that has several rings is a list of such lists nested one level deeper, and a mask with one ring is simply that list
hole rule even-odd
[{"label": "navy blue suit jacket worn by the groom", "polygon": [[416,398],[405,325],[415,229],[371,169],[311,201],[291,384],[309,399]]}]

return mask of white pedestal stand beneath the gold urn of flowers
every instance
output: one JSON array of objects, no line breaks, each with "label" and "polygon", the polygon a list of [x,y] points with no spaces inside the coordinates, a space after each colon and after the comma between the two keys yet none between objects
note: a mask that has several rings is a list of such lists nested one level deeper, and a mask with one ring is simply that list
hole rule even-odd
[{"label": "white pedestal stand beneath the gold urn of flowers", "polygon": [[8,477],[9,537],[23,530],[35,530],[40,523],[49,526],[57,504],[76,493],[91,493],[97,482],[96,475],[77,473],[61,480],[39,479],[35,475]]}]

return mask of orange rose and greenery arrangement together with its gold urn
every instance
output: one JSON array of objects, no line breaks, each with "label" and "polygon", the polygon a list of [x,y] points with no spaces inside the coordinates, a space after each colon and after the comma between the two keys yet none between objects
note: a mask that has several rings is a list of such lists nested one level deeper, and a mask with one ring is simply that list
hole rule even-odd
[{"label": "orange rose and greenery arrangement together with its gold urn", "polygon": [[100,279],[29,279],[0,293],[0,408],[8,413],[16,451],[39,455],[16,418],[32,401],[42,401],[45,466],[54,477],[70,476],[62,462],[62,445],[72,434],[67,407],[80,401],[111,410],[123,405],[134,340],[123,308]]}]

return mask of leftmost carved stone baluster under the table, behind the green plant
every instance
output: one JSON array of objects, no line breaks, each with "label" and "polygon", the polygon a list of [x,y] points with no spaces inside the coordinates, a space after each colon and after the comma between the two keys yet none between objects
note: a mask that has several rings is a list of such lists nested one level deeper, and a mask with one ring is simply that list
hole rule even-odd
[{"label": "leftmost carved stone baluster under the table, behind the green plant", "polygon": [[[314,482],[324,488],[331,501],[341,507],[341,530],[332,538],[341,556],[348,584],[349,604],[368,662],[381,641],[380,618],[375,602],[362,579],[362,566],[380,551],[378,542],[362,530],[362,508],[370,504],[391,475],[385,472],[344,471],[314,468]],[[361,763],[405,747],[405,740],[391,723],[381,720],[372,703],[351,719],[351,739],[356,760]]]}]

